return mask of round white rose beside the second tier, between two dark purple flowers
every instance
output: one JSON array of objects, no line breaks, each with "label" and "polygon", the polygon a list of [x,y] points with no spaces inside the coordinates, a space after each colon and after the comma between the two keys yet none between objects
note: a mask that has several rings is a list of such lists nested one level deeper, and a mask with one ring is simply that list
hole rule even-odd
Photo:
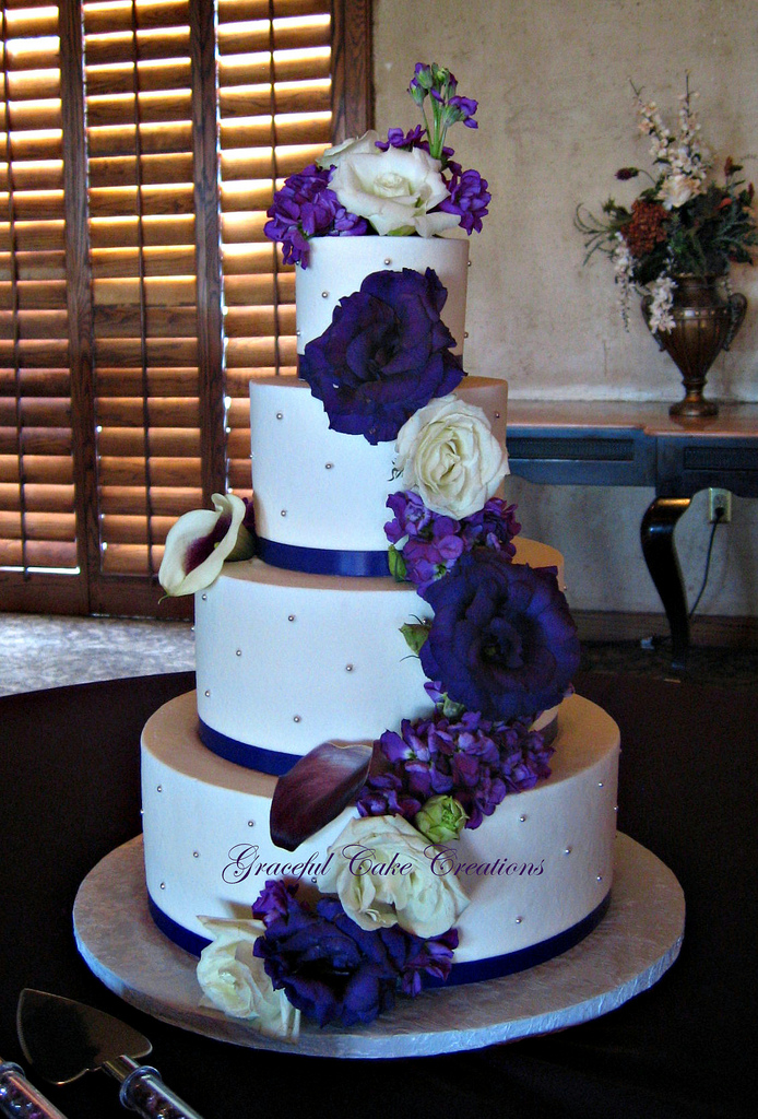
[{"label": "round white rose beside the second tier, between two dark purple flowers", "polygon": [[509,473],[485,413],[455,395],[419,408],[400,427],[395,450],[402,487],[456,520],[483,509]]}]

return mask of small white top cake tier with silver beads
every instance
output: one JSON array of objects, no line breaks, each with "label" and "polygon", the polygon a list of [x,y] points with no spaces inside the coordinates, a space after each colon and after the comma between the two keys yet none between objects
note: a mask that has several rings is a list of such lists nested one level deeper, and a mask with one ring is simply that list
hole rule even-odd
[{"label": "small white top cake tier with silver beads", "polygon": [[434,269],[447,289],[443,322],[455,338],[454,352],[463,354],[467,267],[468,242],[453,237],[314,237],[309,266],[295,275],[297,352],[324,332],[339,301],[371,273]]}]

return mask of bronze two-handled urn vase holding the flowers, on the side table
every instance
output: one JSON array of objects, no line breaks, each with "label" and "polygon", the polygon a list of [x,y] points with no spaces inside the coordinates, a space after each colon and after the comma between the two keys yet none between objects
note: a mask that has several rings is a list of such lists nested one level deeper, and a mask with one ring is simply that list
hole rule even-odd
[{"label": "bronze two-handled urn vase holding the flowers, on the side table", "polygon": [[[676,276],[673,293],[673,330],[656,331],[658,349],[678,366],[684,384],[684,399],[672,404],[669,414],[685,419],[718,415],[718,405],[703,398],[705,377],[722,349],[728,350],[742,326],[748,301],[724,291],[723,276]],[[642,313],[650,328],[652,295],[645,295]]]}]

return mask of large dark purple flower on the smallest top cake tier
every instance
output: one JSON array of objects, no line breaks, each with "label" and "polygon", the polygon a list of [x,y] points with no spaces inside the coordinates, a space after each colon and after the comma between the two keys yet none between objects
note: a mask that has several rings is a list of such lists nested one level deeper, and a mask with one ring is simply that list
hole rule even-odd
[{"label": "large dark purple flower on the smallest top cake tier", "polygon": [[373,272],[340,300],[300,363],[333,431],[389,442],[414,412],[453,392],[465,374],[439,317],[446,299],[432,269],[404,269]]}]

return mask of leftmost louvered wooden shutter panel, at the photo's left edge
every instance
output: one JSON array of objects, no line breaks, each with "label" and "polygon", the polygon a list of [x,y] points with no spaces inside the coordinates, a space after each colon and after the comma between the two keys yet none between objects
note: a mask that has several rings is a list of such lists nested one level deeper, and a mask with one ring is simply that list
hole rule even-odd
[{"label": "leftmost louvered wooden shutter panel, at the photo's left edge", "polygon": [[0,568],[76,610],[58,10],[1,10]]}]

